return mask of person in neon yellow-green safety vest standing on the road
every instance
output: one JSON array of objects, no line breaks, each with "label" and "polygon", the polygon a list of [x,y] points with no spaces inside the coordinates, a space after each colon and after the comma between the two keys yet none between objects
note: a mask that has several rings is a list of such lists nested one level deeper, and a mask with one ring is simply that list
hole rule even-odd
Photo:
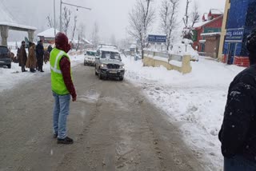
[{"label": "person in neon yellow-green safety vest standing on the road", "polygon": [[63,33],[55,36],[56,47],[50,53],[51,89],[54,96],[53,125],[54,137],[58,144],[72,144],[73,139],[66,136],[66,120],[70,113],[70,95],[76,101],[77,94],[72,81],[68,38]]}]

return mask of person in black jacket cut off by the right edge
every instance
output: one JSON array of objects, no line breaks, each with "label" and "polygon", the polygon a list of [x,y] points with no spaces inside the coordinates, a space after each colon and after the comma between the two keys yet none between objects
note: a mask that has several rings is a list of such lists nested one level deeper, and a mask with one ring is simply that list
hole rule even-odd
[{"label": "person in black jacket cut off by the right edge", "polygon": [[247,38],[250,67],[230,83],[222,128],[224,171],[256,170],[256,30]]}]

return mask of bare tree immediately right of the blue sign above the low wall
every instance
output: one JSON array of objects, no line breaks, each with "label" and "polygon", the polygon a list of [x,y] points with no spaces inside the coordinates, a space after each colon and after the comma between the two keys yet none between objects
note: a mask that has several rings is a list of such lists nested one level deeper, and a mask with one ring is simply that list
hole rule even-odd
[{"label": "bare tree immediately right of the blue sign above the low wall", "polygon": [[166,50],[170,50],[174,29],[178,26],[178,2],[179,0],[162,0],[160,18],[161,30],[166,34]]}]

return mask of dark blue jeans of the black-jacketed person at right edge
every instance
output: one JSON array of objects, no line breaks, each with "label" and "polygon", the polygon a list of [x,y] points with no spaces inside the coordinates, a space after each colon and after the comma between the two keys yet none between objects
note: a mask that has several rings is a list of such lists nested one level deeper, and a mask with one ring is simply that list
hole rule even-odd
[{"label": "dark blue jeans of the black-jacketed person at right edge", "polygon": [[256,162],[242,156],[224,158],[224,171],[256,171]]}]

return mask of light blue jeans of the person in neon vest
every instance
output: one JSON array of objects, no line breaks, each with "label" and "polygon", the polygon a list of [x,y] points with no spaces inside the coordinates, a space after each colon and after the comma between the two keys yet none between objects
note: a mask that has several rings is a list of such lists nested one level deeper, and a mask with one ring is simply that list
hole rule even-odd
[{"label": "light blue jeans of the person in neon vest", "polygon": [[66,137],[66,119],[70,112],[70,94],[58,95],[53,93],[54,103],[54,134],[58,138]]}]

